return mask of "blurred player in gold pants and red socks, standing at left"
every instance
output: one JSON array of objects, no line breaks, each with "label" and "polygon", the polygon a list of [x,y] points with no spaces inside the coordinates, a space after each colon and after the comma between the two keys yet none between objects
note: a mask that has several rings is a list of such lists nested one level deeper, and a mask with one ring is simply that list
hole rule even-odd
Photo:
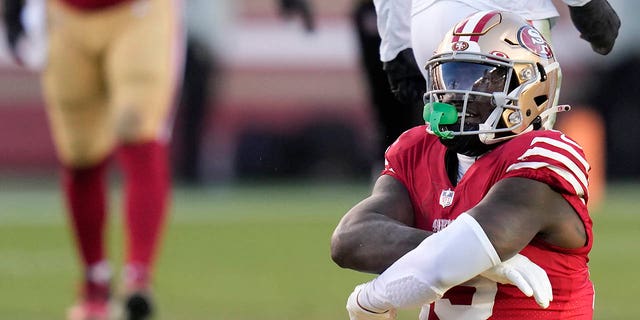
[{"label": "blurred player in gold pants and red socks, standing at left", "polygon": [[[151,282],[170,198],[168,150],[184,39],[178,0],[50,0],[47,113],[82,262],[68,319],[107,319],[112,271],[105,247],[107,174],[123,171],[127,319],[152,311]],[[24,1],[4,0],[16,56]]]}]

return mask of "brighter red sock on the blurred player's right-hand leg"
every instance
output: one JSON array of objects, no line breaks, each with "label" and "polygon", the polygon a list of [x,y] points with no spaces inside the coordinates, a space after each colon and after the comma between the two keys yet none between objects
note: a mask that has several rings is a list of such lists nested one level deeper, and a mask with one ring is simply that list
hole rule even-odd
[{"label": "brighter red sock on the blurred player's right-hand leg", "polygon": [[126,263],[151,269],[169,202],[168,148],[160,142],[131,144],[117,156],[125,179]]}]

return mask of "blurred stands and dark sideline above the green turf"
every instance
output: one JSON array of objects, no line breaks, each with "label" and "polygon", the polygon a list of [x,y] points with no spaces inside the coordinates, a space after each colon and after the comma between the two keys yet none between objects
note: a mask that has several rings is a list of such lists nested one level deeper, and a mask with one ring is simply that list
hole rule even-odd
[{"label": "blurred stands and dark sideline above the green turf", "polygon": [[[283,19],[275,0],[187,1],[185,90],[174,130],[176,175],[237,178],[368,176],[379,139],[352,24],[358,1],[310,1],[316,29]],[[607,176],[640,175],[640,30],[632,0],[612,0],[623,26],[613,52],[593,53],[557,1],[553,29],[564,80],[560,103],[592,109],[606,124]],[[50,173],[55,156],[38,75],[16,68],[2,47],[0,173]],[[41,57],[34,58],[35,60]],[[560,115],[560,122],[564,114]]]}]

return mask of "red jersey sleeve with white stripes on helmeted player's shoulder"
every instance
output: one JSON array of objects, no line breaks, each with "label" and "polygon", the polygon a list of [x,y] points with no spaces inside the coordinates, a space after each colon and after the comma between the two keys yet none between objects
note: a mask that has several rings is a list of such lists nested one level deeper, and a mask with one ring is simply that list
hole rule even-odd
[{"label": "red jersey sleeve with white stripes on helmeted player's shoulder", "polygon": [[521,138],[518,147],[509,150],[510,163],[503,178],[537,180],[560,194],[578,197],[586,203],[590,167],[582,147],[555,130]]}]

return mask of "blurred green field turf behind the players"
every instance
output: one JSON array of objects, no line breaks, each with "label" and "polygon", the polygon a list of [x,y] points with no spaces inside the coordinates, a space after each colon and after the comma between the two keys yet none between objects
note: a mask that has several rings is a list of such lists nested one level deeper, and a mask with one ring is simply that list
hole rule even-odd
[{"label": "blurred green field turf behind the players", "polygon": [[[640,319],[640,185],[610,185],[593,213],[595,319]],[[178,189],[155,281],[162,320],[347,319],[346,297],[369,275],[329,258],[341,215],[366,184]],[[120,202],[110,243],[120,265]],[[0,319],[63,319],[77,257],[52,182],[0,184]],[[402,313],[400,319],[417,319]]]}]

